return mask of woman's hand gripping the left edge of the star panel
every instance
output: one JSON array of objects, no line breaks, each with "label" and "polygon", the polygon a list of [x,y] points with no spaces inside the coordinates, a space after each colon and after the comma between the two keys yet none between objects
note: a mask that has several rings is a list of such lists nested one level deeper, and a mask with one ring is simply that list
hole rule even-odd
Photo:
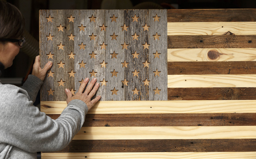
[{"label": "woman's hand gripping the left edge of the star panel", "polygon": [[35,57],[35,63],[32,69],[32,75],[37,76],[42,81],[45,79],[46,72],[52,67],[52,61],[49,61],[45,67],[42,69],[40,67],[40,57],[39,55]]}]

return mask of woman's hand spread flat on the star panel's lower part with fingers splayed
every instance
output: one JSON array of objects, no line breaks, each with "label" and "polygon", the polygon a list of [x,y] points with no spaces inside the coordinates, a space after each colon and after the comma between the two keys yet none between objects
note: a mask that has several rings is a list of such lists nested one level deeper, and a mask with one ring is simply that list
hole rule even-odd
[{"label": "woman's hand spread flat on the star panel's lower part with fingers splayed", "polygon": [[[94,96],[95,92],[98,90],[99,88],[99,83],[96,83],[97,79],[93,78],[93,80],[91,80],[90,84],[87,86],[87,88],[85,89],[87,83],[89,82],[89,78],[86,78],[83,83],[81,84],[81,86],[79,87],[78,92],[72,96],[72,93],[69,89],[65,89],[66,95],[67,95],[67,103],[69,103],[70,101],[74,100],[74,99],[79,99],[81,101],[83,101],[84,103],[86,103],[88,110],[91,109],[91,107],[93,107],[93,105],[99,101],[99,99],[101,99],[101,96],[98,95],[96,98],[94,98],[93,100],[91,100],[91,98]],[[95,84],[96,83],[96,84]],[[95,84],[95,86],[94,86]],[[84,90],[85,89],[85,90]],[[84,92],[83,92],[84,91]]]}]

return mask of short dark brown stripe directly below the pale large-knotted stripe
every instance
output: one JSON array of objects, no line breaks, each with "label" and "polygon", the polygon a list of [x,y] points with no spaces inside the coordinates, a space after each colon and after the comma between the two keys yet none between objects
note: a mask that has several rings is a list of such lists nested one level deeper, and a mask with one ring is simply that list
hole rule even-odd
[{"label": "short dark brown stripe directly below the pale large-knotted stripe", "polygon": [[256,74],[256,61],[168,62],[168,75]]}]

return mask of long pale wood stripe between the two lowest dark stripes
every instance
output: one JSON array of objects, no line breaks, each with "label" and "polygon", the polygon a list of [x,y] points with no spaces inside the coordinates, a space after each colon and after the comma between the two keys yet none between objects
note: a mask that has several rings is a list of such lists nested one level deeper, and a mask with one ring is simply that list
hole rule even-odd
[{"label": "long pale wood stripe between the two lowest dark stripes", "polygon": [[82,127],[73,140],[256,139],[256,126]]}]

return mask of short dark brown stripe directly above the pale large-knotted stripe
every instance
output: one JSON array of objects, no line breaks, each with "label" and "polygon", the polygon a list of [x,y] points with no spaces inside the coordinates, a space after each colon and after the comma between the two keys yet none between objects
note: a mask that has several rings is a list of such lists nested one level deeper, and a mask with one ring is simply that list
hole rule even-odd
[{"label": "short dark brown stripe directly above the pale large-knotted stripe", "polygon": [[256,35],[169,35],[167,48],[256,48]]}]

